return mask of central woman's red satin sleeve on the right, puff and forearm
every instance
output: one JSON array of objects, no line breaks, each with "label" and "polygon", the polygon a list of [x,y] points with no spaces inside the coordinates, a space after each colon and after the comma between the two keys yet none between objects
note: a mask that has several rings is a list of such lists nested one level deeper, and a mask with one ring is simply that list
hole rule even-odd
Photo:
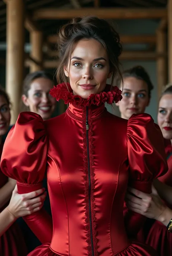
[{"label": "central woman's red satin sleeve on the right, puff and forearm", "polygon": [[[152,180],[168,170],[161,130],[148,114],[134,114],[128,120],[127,146],[129,186],[151,193]],[[130,237],[135,237],[145,217],[125,210],[125,225]]]}]

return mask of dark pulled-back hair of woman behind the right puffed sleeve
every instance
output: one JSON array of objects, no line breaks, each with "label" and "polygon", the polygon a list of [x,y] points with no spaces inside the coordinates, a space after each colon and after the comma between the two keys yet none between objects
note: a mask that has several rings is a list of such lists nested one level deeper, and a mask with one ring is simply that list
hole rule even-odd
[{"label": "dark pulled-back hair of woman behind the right puffed sleeve", "polygon": [[150,76],[142,66],[134,66],[131,69],[124,70],[122,73],[122,78],[135,77],[139,80],[146,82],[148,86],[148,97],[151,98],[151,90],[153,89],[153,84],[151,82]]}]

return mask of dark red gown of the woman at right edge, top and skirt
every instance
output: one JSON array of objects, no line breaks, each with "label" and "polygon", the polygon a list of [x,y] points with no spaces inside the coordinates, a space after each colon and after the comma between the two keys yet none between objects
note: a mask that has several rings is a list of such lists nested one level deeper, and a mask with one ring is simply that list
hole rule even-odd
[{"label": "dark red gown of the woman at right edge, top and skirt", "polygon": [[[167,146],[165,151],[169,169],[159,180],[172,186],[172,146]],[[167,204],[167,206],[172,209],[172,205]],[[155,221],[148,233],[146,243],[155,248],[159,256],[172,256],[172,233],[169,233],[162,223]]]}]

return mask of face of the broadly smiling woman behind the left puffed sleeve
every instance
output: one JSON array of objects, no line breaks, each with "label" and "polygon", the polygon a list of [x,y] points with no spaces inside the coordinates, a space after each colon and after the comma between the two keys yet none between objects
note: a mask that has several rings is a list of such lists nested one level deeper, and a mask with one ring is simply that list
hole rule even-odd
[{"label": "face of the broadly smiling woman behind the left puffed sleeve", "polygon": [[56,106],[56,99],[49,91],[52,81],[47,78],[36,78],[30,85],[28,97],[22,95],[22,101],[29,107],[30,111],[41,115],[43,120],[49,119]]}]

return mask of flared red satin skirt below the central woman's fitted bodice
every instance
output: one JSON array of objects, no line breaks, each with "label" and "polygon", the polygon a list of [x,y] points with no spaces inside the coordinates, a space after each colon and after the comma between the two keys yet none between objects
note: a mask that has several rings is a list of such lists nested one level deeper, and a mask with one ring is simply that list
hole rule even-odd
[{"label": "flared red satin skirt below the central woman's fitted bodice", "polygon": [[[28,256],[60,256],[50,249],[50,244],[42,244],[34,251],[30,252]],[[100,255],[101,256],[101,255]],[[111,255],[107,255],[111,256]],[[146,244],[141,244],[138,241],[133,241],[127,248],[121,252],[116,253],[114,256],[157,256],[156,251]]]}]

